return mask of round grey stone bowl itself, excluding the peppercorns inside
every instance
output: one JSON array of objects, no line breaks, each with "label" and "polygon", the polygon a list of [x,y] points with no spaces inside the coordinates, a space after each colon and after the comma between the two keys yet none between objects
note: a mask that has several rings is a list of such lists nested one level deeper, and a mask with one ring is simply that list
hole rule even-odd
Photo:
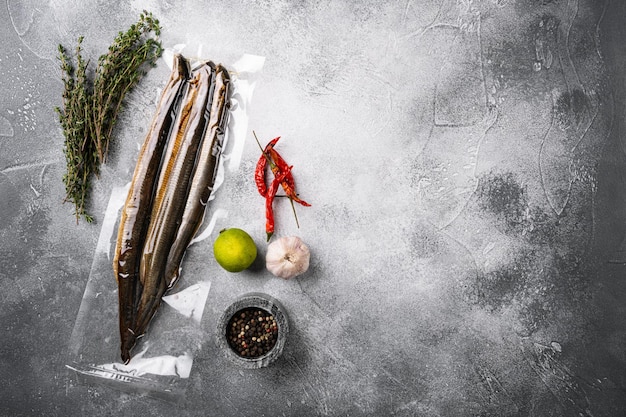
[{"label": "round grey stone bowl itself, excluding the peppercorns inside", "polygon": [[[276,343],[264,355],[256,357],[240,356],[228,343],[228,325],[236,313],[249,308],[259,308],[270,313],[278,327]],[[289,333],[289,323],[284,307],[274,297],[263,293],[248,293],[237,298],[222,313],[217,325],[217,342],[224,351],[226,357],[236,365],[246,369],[263,368],[274,362],[283,352],[287,334]]]}]

